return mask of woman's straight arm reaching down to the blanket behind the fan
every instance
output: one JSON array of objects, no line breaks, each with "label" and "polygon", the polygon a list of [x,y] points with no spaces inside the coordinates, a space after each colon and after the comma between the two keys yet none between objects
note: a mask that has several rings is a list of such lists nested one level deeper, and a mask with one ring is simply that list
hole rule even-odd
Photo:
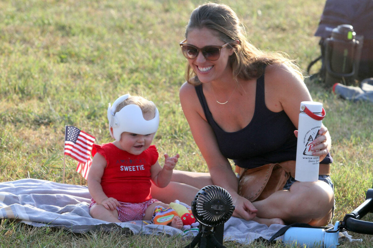
[{"label": "woman's straight arm reaching down to the blanket behind the fan", "polygon": [[205,159],[213,183],[227,190],[235,204],[234,216],[247,220],[256,216],[253,204],[237,193],[238,178],[231,164],[219,150],[213,130],[205,119],[194,86],[184,83],[179,92],[181,106],[193,138]]}]

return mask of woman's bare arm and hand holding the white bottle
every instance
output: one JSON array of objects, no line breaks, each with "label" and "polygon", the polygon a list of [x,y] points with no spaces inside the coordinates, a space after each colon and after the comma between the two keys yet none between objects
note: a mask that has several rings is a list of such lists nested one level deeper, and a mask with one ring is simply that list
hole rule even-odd
[{"label": "woman's bare arm and hand holding the white bottle", "polygon": [[[303,78],[286,65],[273,65],[266,70],[266,91],[272,96],[269,102],[269,109],[272,111],[284,110],[294,126],[298,129],[299,107],[303,101],[312,101]],[[268,86],[268,87],[267,87]],[[271,109],[272,108],[272,109]],[[298,131],[294,131],[298,137]],[[320,156],[322,161],[331,148],[331,138],[327,128],[322,125],[319,131],[320,136],[312,143],[312,155]]]}]

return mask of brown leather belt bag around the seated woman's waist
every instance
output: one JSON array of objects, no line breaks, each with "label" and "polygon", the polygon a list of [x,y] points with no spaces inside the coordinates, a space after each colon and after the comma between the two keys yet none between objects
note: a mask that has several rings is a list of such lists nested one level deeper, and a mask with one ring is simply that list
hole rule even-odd
[{"label": "brown leather belt bag around the seated woman's waist", "polygon": [[[278,190],[282,190],[289,177],[295,176],[295,161],[245,169],[236,166],[239,173],[238,194],[250,202],[266,199]],[[320,175],[330,175],[330,165],[320,164]]]}]

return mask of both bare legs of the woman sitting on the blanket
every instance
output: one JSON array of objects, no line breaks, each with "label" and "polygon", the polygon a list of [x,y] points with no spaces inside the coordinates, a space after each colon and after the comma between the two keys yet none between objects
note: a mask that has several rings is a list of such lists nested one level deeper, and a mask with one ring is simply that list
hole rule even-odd
[{"label": "both bare legs of the woman sitting on the blanket", "polygon": [[[162,202],[180,200],[190,204],[200,189],[213,185],[209,173],[174,170],[172,181],[163,189],[152,185],[152,196]],[[334,194],[323,182],[295,182],[289,190],[277,191],[267,199],[253,202],[259,223],[309,223],[324,226],[332,218]],[[283,221],[282,221],[283,220]]]}]

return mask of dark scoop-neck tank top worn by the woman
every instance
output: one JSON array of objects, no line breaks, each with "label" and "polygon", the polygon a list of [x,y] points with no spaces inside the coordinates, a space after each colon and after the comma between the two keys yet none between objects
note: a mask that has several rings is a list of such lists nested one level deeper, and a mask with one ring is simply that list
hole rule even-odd
[{"label": "dark scoop-neck tank top worn by the woman", "polygon": [[215,133],[220,152],[242,168],[295,160],[297,138],[294,135],[294,124],[285,111],[272,112],[267,109],[264,102],[264,74],[257,79],[256,84],[253,119],[245,128],[236,132],[225,132],[217,125],[207,106],[202,90],[203,84],[195,86],[207,122]]}]

